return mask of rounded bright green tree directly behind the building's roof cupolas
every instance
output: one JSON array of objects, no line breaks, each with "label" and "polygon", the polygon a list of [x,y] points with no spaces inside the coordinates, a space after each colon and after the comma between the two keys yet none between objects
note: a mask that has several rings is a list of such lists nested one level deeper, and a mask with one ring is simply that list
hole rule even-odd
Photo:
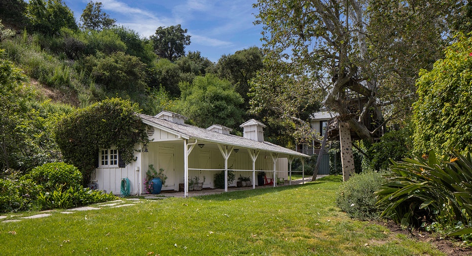
[{"label": "rounded bright green tree directly behind the building's roof cupolas", "polygon": [[176,103],[176,112],[189,117],[194,124],[200,127],[212,124],[238,127],[242,123],[243,100],[227,80],[206,74],[195,77],[192,83],[182,82],[179,86],[181,100]]}]

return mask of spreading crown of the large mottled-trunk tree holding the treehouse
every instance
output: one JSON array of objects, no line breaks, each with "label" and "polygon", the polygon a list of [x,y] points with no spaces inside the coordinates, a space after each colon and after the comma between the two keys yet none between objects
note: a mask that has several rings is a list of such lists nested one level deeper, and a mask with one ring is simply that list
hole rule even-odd
[{"label": "spreading crown of the large mottled-trunk tree holding the treehouse", "polygon": [[[278,109],[306,127],[285,110],[321,99],[372,140],[386,121],[409,112],[418,70],[441,56],[455,1],[259,0],[254,7],[266,68],[252,88],[253,110]],[[293,88],[271,93],[286,83]],[[352,95],[364,100],[360,108],[350,107]],[[374,127],[362,121],[368,116]]]}]

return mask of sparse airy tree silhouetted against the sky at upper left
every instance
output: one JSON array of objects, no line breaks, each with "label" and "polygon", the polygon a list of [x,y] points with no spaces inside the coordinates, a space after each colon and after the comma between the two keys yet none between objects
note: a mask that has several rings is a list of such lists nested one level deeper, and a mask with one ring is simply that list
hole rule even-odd
[{"label": "sparse airy tree silhouetted against the sky at upper left", "polygon": [[103,29],[112,28],[116,20],[110,18],[110,15],[101,10],[101,2],[93,3],[90,1],[84,9],[84,12],[80,16],[82,26],[85,29],[91,29],[95,31],[101,31]]}]

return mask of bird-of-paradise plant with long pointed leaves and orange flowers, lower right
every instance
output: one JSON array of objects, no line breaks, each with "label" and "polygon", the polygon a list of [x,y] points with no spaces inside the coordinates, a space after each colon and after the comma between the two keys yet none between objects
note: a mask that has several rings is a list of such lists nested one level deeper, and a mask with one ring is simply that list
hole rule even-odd
[{"label": "bird-of-paradise plant with long pointed leaves and orange flowers, lower right", "polygon": [[430,151],[429,156],[393,162],[377,192],[382,216],[402,226],[436,223],[445,231],[457,231],[453,235],[472,233],[472,160],[470,153],[451,153],[438,159]]}]

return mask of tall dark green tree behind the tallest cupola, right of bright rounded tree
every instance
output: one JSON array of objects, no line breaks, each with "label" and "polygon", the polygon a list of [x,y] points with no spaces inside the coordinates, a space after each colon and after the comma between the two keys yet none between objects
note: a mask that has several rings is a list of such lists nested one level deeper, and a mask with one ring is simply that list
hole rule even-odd
[{"label": "tall dark green tree behind the tallest cupola, right of bright rounded tree", "polygon": [[244,98],[244,105],[249,108],[249,81],[256,76],[263,67],[262,50],[251,47],[234,54],[223,55],[216,64],[216,71],[220,78],[228,79]]}]

